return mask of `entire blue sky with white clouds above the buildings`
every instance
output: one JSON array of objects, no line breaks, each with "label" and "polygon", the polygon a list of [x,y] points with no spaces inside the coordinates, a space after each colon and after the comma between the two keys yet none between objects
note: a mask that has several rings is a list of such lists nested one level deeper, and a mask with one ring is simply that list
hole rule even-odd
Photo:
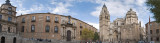
[{"label": "entire blue sky with white clouds above the buildings", "polygon": [[[17,7],[17,16],[28,13],[55,13],[60,15],[71,15],[99,29],[99,15],[102,6],[108,8],[111,22],[116,18],[124,18],[127,11],[132,8],[136,11],[138,20],[145,26],[149,15],[145,5],[146,0],[10,0],[13,6]],[[0,0],[0,4],[5,0]],[[151,18],[151,21],[154,21]]]}]

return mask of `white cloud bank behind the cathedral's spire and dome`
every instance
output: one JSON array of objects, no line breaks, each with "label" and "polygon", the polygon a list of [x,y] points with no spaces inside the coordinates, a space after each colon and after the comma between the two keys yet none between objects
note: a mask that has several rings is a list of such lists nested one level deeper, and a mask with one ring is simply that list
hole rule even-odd
[{"label": "white cloud bank behind the cathedral's spire and dome", "polygon": [[[149,11],[146,10],[147,7],[145,6],[145,2],[146,0],[96,0],[96,3],[100,6],[95,7],[95,11],[91,12],[91,15],[99,17],[104,3],[108,8],[111,17],[123,18],[127,11],[132,8],[134,11],[136,11],[137,16],[139,17],[139,21],[141,21],[142,26],[144,26],[146,21],[143,19],[145,19],[147,14],[149,14]],[[111,21],[113,21],[113,18],[111,18]]]}]

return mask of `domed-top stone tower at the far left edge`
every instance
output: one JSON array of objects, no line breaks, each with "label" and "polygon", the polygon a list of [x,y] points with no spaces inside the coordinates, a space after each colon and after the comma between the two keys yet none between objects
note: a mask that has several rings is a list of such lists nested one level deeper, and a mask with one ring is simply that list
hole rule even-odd
[{"label": "domed-top stone tower at the far left edge", "polygon": [[0,32],[16,33],[16,7],[9,0],[0,7]]}]

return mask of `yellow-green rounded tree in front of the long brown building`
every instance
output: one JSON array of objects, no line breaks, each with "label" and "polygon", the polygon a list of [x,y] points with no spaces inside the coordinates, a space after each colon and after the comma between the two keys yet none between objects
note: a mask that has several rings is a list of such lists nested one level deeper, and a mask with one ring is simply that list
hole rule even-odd
[{"label": "yellow-green rounded tree in front of the long brown building", "polygon": [[88,29],[83,29],[82,30],[82,35],[81,38],[83,40],[93,40],[94,38],[94,32]]}]

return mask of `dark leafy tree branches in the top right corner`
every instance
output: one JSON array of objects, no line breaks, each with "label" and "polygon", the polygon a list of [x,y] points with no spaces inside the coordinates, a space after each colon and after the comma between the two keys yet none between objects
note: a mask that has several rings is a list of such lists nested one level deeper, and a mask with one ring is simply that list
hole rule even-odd
[{"label": "dark leafy tree branches in the top right corner", "polygon": [[154,14],[153,18],[156,22],[160,22],[160,0],[147,0],[146,4]]}]

